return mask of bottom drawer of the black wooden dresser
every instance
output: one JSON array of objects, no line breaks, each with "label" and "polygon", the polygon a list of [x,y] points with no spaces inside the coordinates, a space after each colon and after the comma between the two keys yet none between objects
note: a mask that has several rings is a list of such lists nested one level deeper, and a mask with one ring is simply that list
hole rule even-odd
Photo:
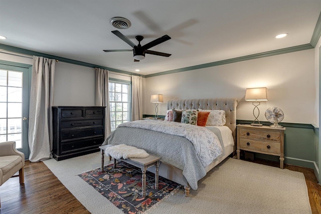
[{"label": "bottom drawer of the black wooden dresser", "polygon": [[90,140],[83,140],[83,141],[77,141],[72,143],[65,143],[61,144],[61,153],[69,153],[69,152],[75,152],[77,150],[85,150],[90,148],[99,147],[103,143],[103,138],[97,138],[97,139],[90,139]]}]

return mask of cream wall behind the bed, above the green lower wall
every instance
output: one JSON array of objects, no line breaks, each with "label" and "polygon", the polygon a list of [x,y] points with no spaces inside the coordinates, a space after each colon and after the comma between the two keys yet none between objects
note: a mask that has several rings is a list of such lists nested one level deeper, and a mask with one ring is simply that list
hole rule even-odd
[{"label": "cream wall behind the bed, above the green lower wall", "polygon": [[283,122],[316,123],[313,49],[148,77],[145,81],[143,114],[147,115],[155,114],[150,95],[161,93],[165,100],[159,105],[158,115],[166,114],[170,99],[236,97],[237,119],[253,120],[254,106],[244,100],[245,90],[267,87],[268,101],[259,106],[259,120],[266,121],[266,109],[278,106],[285,115]]}]

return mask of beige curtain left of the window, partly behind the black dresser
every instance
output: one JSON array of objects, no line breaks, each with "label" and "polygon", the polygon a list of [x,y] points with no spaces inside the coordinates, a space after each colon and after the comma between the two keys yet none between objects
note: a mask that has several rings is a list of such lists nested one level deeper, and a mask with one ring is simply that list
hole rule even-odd
[{"label": "beige curtain left of the window, partly behind the black dresser", "polygon": [[108,70],[97,68],[96,70],[96,106],[106,106],[105,108],[105,138],[110,131],[109,113],[109,92],[108,92]]}]

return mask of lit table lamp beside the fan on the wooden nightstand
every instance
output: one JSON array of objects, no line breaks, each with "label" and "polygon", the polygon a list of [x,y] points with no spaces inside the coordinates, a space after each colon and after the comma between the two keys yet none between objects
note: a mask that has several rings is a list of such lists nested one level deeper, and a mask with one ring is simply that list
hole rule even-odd
[{"label": "lit table lamp beside the fan on the wooden nightstand", "polygon": [[[260,110],[257,106],[261,104],[260,101],[267,101],[267,88],[246,88],[245,100],[252,101],[252,104],[254,105],[253,115],[255,119],[251,126],[262,126],[262,124],[260,124],[260,121],[258,120]],[[258,111],[257,116],[255,115],[255,109],[257,109]],[[257,121],[257,123],[255,123],[255,121]]]}]

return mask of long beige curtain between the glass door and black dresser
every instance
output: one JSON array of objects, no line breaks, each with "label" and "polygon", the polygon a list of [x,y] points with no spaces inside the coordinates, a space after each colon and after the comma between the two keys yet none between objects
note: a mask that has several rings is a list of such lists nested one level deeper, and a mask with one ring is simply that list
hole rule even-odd
[{"label": "long beige curtain between the glass door and black dresser", "polygon": [[52,158],[52,104],[54,99],[55,60],[33,57],[30,90],[29,160],[43,161]]}]

